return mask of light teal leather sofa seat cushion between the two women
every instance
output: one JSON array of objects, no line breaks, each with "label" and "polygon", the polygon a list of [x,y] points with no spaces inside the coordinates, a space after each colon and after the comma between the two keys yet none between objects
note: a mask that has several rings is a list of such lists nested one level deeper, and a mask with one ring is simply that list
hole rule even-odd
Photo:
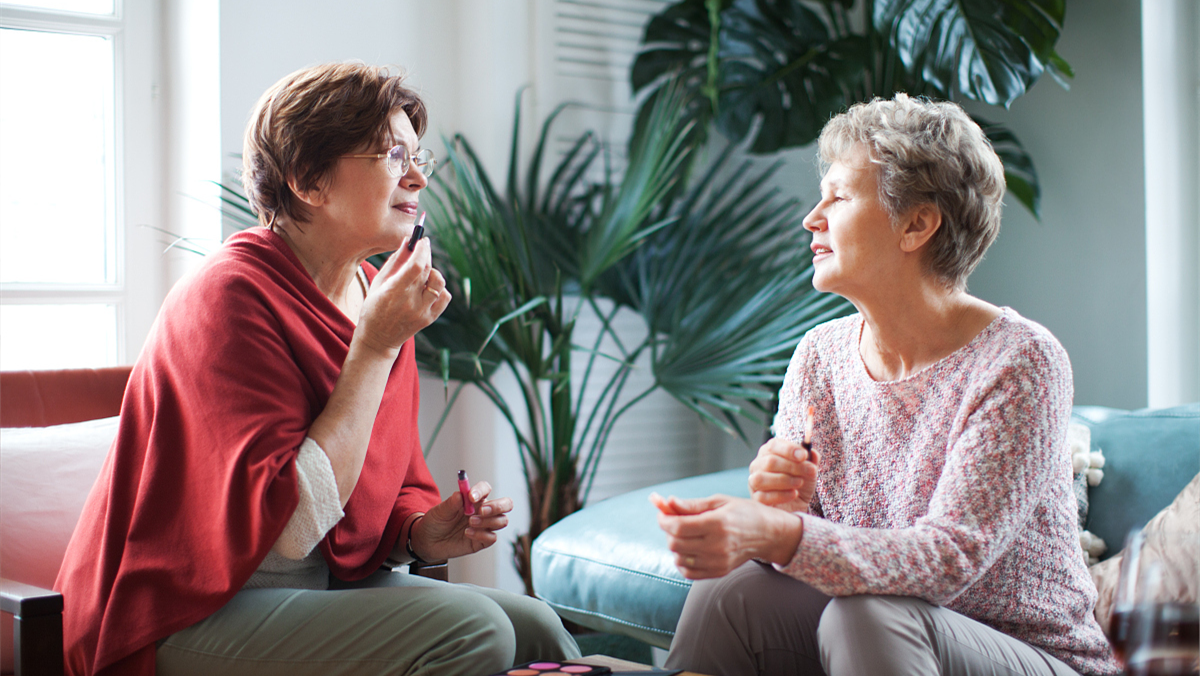
[{"label": "light teal leather sofa seat cushion between the two women", "polygon": [[748,477],[746,468],[691,477],[576,512],[534,542],[534,592],[566,620],[670,647],[691,582],[674,566],[649,495],[749,497]]}]

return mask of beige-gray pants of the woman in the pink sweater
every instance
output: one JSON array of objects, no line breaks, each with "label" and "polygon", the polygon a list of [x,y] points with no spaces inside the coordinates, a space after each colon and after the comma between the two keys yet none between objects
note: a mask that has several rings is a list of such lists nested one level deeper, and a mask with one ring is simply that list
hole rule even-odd
[{"label": "beige-gray pants of the woman in the pink sweater", "polygon": [[953,610],[906,597],[830,599],[754,562],[692,585],[666,665],[721,676],[1078,676]]}]

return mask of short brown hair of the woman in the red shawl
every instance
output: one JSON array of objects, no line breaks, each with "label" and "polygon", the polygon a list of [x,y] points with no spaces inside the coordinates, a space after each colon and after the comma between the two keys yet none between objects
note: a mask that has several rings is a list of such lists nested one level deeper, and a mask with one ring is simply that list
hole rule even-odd
[{"label": "short brown hair of the woman in the red shawl", "polygon": [[[391,138],[391,116],[404,110],[416,136],[425,134],[425,103],[402,85],[403,73],[365,64],[325,64],[275,83],[246,126],[241,185],[263,225],[308,214],[288,180],[316,190],[342,155]],[[415,149],[412,149],[413,151]]]}]

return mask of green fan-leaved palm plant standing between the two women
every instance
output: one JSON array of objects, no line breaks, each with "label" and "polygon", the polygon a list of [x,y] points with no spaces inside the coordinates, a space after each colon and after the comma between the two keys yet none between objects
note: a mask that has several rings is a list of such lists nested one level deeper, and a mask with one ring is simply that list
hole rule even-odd
[{"label": "green fan-leaved palm plant standing between the two women", "polygon": [[[689,171],[691,124],[679,96],[659,98],[619,179],[602,145],[583,134],[540,180],[556,115],[522,175],[518,96],[503,184],[467,139],[448,139],[449,167],[428,211],[455,301],[416,339],[425,370],[478,387],[516,437],[530,522],[514,557],[529,593],[533,540],[587,499],[624,412],[661,388],[744,436],[743,421],[764,420],[803,333],[846,310],[814,292],[802,214],[768,187],[774,167],[732,166],[721,152]],[[614,331],[619,311],[641,316],[644,339]],[[586,345],[576,340],[583,312],[600,321]],[[605,339],[617,348],[602,352]],[[626,393],[644,357],[653,383]],[[600,359],[617,367],[600,377]],[[496,387],[500,371],[515,377],[517,396]],[[584,391],[599,393],[594,403]]]}]

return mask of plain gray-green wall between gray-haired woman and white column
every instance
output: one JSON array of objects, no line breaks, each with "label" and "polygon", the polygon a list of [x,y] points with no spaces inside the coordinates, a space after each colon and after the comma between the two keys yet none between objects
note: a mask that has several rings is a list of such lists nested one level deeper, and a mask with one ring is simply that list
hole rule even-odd
[{"label": "plain gray-green wall between gray-haired woman and white column", "polygon": [[1072,2],[1058,53],[1070,91],[1043,78],[1004,124],[1032,154],[1042,222],[1014,199],[971,291],[1052,331],[1070,355],[1075,403],[1146,406],[1146,232],[1141,13],[1132,0]]}]

